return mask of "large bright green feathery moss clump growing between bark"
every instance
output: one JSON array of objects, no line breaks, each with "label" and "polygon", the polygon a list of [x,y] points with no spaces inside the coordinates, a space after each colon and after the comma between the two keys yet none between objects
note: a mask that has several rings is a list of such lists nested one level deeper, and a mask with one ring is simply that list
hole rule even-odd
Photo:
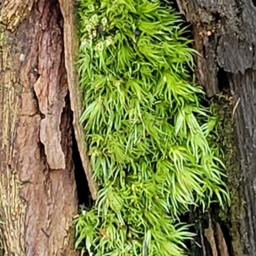
[{"label": "large bright green feathery moss clump growing between bark", "polygon": [[183,255],[191,234],[179,215],[228,194],[182,19],[164,0],[80,0],[77,13],[81,122],[100,191],[76,220],[76,246]]}]

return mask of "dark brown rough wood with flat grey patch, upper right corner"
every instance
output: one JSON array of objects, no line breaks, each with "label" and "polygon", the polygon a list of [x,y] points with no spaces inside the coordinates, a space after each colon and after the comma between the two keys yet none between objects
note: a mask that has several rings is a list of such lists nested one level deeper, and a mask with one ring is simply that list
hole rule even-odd
[{"label": "dark brown rough wood with flat grey patch, upper right corner", "polygon": [[218,71],[256,70],[256,8],[252,0],[177,0],[194,26],[198,79],[211,97],[219,91]]}]

